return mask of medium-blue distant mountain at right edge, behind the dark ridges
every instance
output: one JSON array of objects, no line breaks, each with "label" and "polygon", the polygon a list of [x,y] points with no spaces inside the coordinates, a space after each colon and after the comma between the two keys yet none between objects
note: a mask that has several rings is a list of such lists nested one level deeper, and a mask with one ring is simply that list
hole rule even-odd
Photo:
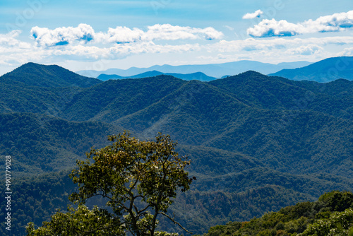
[{"label": "medium-blue distant mountain at right edge, behind the dark ridges", "polygon": [[282,76],[295,81],[330,82],[337,78],[353,80],[353,57],[333,57],[297,69],[283,69],[270,76]]}]

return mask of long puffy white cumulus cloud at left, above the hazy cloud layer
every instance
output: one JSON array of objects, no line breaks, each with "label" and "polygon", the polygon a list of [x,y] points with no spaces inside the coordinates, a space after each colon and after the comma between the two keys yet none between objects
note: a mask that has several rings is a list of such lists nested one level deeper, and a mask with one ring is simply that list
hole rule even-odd
[{"label": "long puffy white cumulus cloud at left, above the hazy cloud layer", "polygon": [[95,33],[90,25],[80,24],[78,27],[63,27],[49,30],[48,28],[34,27],[30,31],[32,37],[41,47],[96,43],[131,43],[148,42],[155,40],[217,40],[223,33],[214,28],[191,28],[178,25],[157,24],[148,26],[147,31],[139,28],[118,26],[109,28],[107,32]]}]

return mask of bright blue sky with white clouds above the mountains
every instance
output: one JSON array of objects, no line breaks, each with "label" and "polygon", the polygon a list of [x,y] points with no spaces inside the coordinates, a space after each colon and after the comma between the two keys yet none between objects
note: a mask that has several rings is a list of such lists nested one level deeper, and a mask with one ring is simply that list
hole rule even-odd
[{"label": "bright blue sky with white clouds above the mountains", "polygon": [[0,75],[353,56],[352,0],[1,0]]}]

